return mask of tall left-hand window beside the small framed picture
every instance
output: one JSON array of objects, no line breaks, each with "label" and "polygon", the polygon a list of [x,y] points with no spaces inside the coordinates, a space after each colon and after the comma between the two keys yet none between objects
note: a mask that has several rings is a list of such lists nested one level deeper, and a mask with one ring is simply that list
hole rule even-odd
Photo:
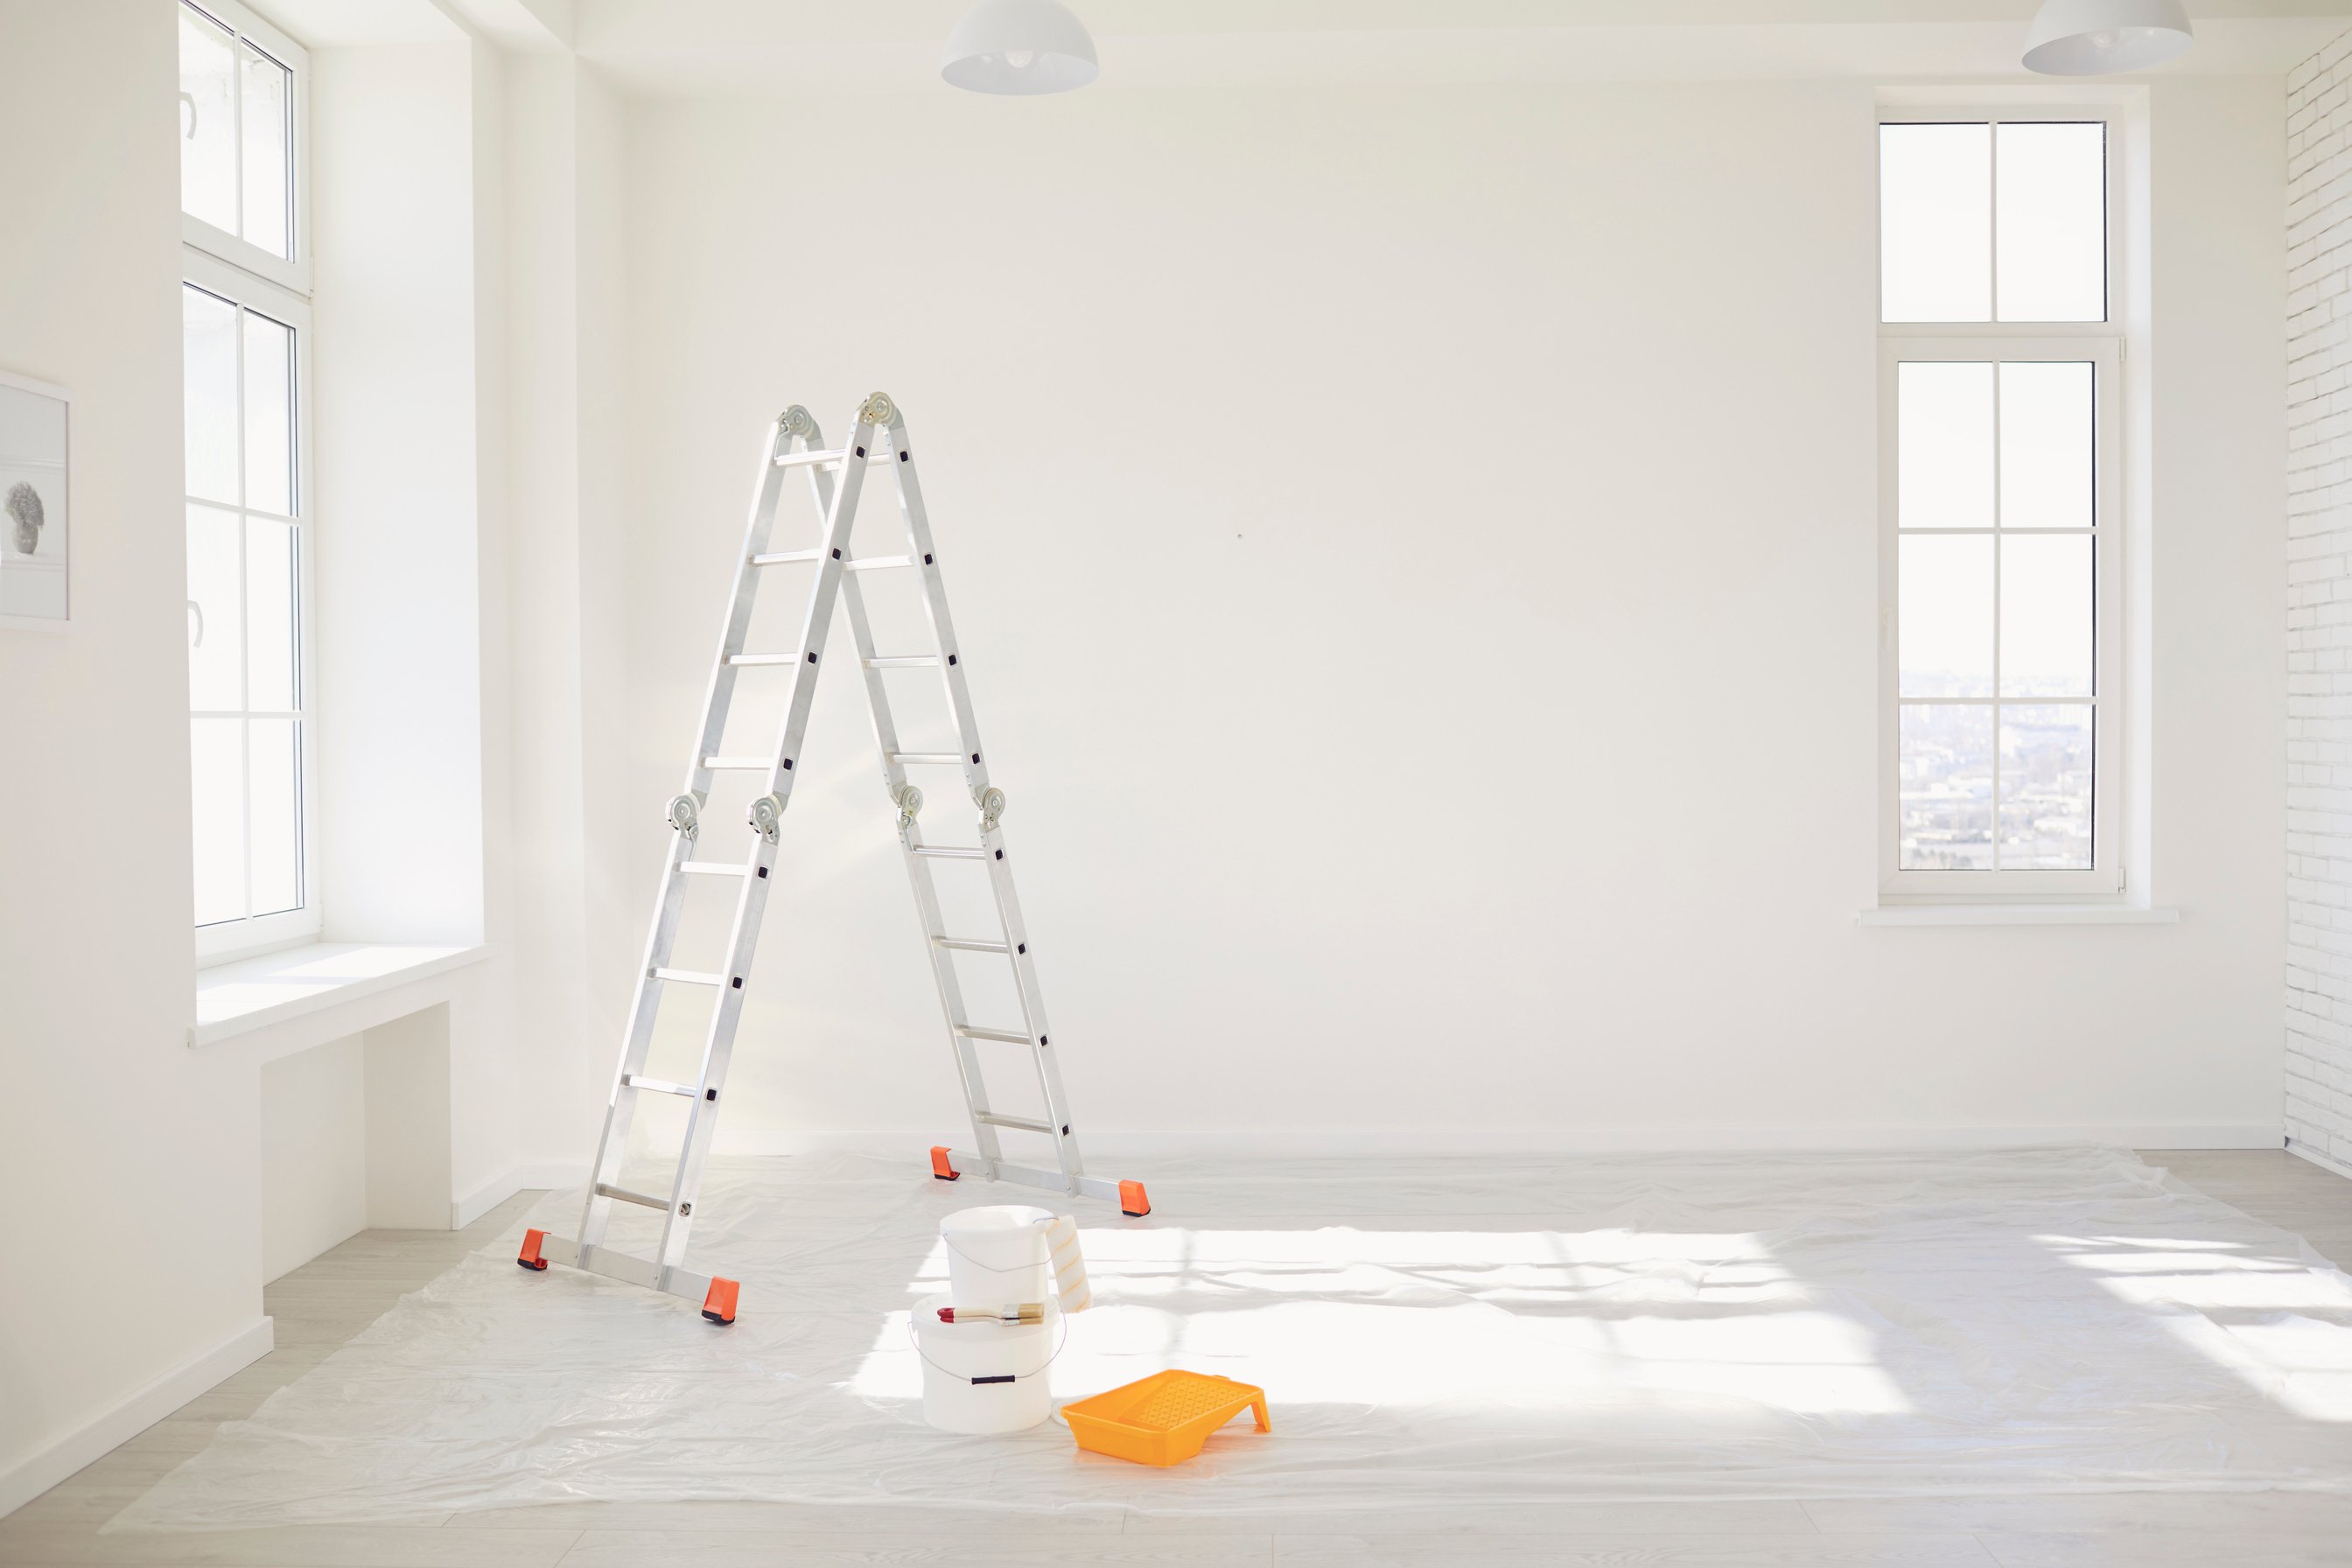
[{"label": "tall left-hand window beside the small framed picture", "polygon": [[320,929],[310,875],[310,306],[296,200],[303,68],[292,40],[242,9],[181,5],[188,764],[200,957]]}]

